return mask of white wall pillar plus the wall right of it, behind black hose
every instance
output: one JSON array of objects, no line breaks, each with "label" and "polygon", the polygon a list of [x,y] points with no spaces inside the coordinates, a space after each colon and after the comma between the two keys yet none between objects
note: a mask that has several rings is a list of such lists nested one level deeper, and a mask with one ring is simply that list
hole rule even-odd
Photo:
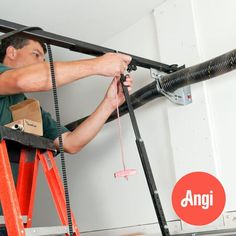
[{"label": "white wall pillar plus the wall right of it, behind black hose", "polygon": [[[170,0],[155,10],[160,58],[186,66],[235,48],[235,1]],[[192,87],[193,104],[166,106],[177,180],[191,171],[217,176],[226,211],[235,211],[235,72]],[[222,226],[220,217],[214,222]],[[190,226],[183,224],[183,228]]]}]

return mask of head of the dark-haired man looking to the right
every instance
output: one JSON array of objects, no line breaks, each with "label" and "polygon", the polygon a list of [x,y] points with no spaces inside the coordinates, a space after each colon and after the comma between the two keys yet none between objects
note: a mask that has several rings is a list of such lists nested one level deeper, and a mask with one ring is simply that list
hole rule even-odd
[{"label": "head of the dark-haired man looking to the right", "polygon": [[15,68],[27,66],[44,61],[46,52],[42,42],[16,35],[2,41],[0,63]]}]

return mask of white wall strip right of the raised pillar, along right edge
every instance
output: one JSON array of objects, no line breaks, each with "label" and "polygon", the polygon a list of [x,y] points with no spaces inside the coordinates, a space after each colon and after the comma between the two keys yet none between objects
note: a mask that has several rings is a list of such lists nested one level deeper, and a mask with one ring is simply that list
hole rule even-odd
[{"label": "white wall strip right of the raised pillar, along right edge", "polygon": [[[209,8],[214,9],[211,12],[211,17],[206,10],[205,1],[193,2],[196,9],[196,22],[198,22],[199,55],[202,60],[230,51],[236,46],[236,32],[234,30],[236,2],[233,0],[210,0],[208,2]],[[235,76],[236,73],[233,71],[206,82],[206,94],[215,143],[215,158],[220,163],[220,174],[227,195],[226,211],[236,210],[234,197],[236,185],[232,179],[236,164],[234,148],[236,132]]]}]

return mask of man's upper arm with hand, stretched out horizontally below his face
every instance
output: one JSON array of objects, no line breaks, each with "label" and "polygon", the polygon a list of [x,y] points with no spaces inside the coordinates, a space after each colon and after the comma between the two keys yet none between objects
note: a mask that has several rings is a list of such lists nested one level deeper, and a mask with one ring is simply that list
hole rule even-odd
[{"label": "man's upper arm with hand, stretched out horizontally below his face", "polygon": [[[92,75],[114,77],[124,73],[131,57],[119,53],[107,53],[101,57],[55,62],[57,86],[62,86]],[[48,62],[41,62],[8,70],[0,74],[0,94],[47,91],[52,88]]]}]

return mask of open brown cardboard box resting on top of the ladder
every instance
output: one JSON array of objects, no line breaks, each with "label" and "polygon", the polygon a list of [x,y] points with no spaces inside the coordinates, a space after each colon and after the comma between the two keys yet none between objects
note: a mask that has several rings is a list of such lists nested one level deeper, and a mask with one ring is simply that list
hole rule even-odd
[{"label": "open brown cardboard box resting on top of the ladder", "polygon": [[42,114],[39,101],[27,99],[10,107],[13,122],[7,127],[20,129],[23,132],[43,136]]}]

